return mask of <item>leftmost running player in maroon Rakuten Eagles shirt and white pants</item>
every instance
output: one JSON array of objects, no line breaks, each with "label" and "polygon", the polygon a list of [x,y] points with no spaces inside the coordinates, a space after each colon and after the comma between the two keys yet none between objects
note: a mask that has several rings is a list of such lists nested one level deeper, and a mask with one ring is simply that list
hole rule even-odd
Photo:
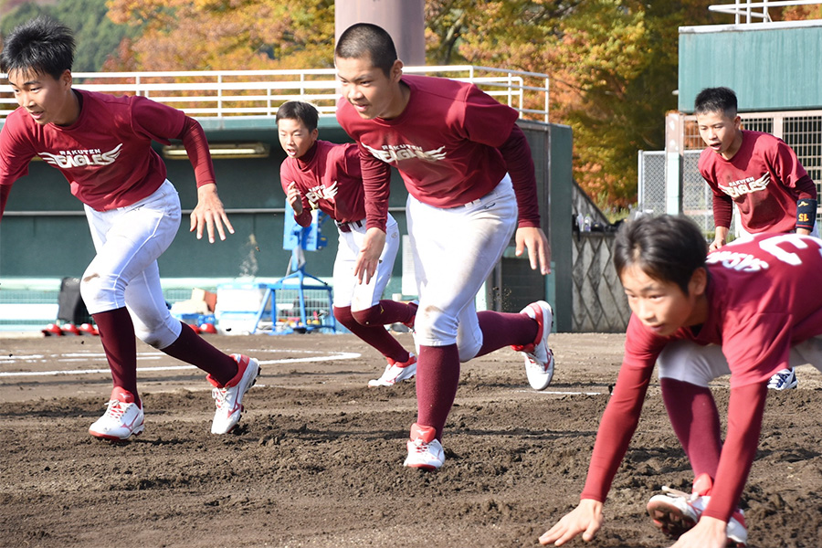
[{"label": "leftmost running player in maroon Rakuten Eagles shirt and white pants", "polygon": [[91,436],[125,439],[144,428],[137,392],[136,335],[153,347],[208,373],[216,412],[211,431],[237,425],[243,396],[258,376],[257,360],[221,353],[171,316],[160,286],[157,258],[180,226],[180,200],[165,178],[152,141],[181,139],[197,182],[191,231],[225,239],[233,232],[216,192],[205,133],[183,112],[142,97],[113,97],[71,87],[74,37],[66,26],[37,18],[5,37],[0,69],[8,73],[20,107],[0,133],[0,216],[9,191],[35,156],[68,179],[85,205],[97,255],[80,292],[98,325],[114,388]]}]

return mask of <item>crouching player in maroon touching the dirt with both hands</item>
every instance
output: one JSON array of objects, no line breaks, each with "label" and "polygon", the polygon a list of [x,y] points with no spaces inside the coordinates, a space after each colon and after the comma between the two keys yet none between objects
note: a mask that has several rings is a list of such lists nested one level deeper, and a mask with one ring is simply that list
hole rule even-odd
[{"label": "crouching player in maroon touching the dirt with both hands", "polygon": [[[576,509],[540,537],[561,545],[603,522],[603,503],[637,428],[654,364],[694,489],[648,502],[676,548],[744,546],[737,507],[759,441],[767,383],[789,365],[822,371],[822,240],[796,234],[740,238],[712,252],[685,217],[640,217],[617,234],[614,263],[632,311],[625,358],[596,434]],[[731,374],[724,443],[708,388]],[[680,536],[681,535],[681,536]]]}]

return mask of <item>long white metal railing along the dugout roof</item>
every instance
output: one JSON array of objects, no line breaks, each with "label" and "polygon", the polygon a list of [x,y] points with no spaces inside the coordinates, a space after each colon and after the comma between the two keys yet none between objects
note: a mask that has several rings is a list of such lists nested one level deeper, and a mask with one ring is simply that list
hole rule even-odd
[{"label": "long white metal railing along the dugout roof", "polygon": [[[520,112],[521,118],[548,121],[548,76],[471,65],[406,67],[469,81]],[[180,72],[75,72],[74,87],[116,95],[142,95],[195,118],[273,117],[287,100],[308,100],[321,116],[332,116],[340,95],[333,68],[303,70],[197,70]],[[5,75],[0,74],[5,81]],[[0,84],[0,120],[17,107],[11,86]]]}]

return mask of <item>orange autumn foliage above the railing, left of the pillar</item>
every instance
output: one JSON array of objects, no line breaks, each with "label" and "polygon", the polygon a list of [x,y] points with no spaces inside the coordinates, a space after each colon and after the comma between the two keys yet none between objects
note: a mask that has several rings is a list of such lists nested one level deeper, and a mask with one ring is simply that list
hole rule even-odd
[{"label": "orange autumn foliage above the railing, left of the pillar", "polygon": [[142,26],[109,70],[333,66],[333,0],[111,0],[109,17]]}]

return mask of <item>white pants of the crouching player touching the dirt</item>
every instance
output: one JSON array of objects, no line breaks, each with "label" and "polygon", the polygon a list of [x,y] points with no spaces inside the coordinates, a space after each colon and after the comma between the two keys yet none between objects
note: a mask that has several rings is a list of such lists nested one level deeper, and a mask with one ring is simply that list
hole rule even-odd
[{"label": "white pants of the crouching player touching the dirt", "polygon": [[[811,364],[822,372],[822,336],[793,346],[788,361],[792,367]],[[671,342],[659,354],[657,363],[659,378],[691,385],[707,387],[716,377],[731,374],[722,347],[717,344],[701,346],[691,341]]]}]

